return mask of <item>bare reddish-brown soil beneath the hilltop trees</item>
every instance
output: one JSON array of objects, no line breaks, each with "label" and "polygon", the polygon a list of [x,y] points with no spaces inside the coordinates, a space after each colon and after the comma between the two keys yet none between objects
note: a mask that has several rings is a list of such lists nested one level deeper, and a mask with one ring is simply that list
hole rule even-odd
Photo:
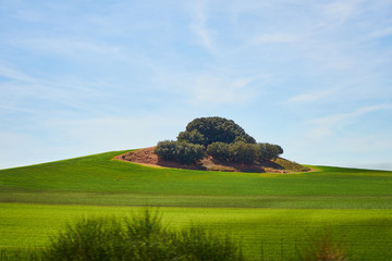
[{"label": "bare reddish-brown soil beneath the hilltop trees", "polygon": [[114,159],[121,161],[128,161],[138,164],[157,166],[157,167],[176,167],[188,170],[204,170],[204,171],[224,171],[224,172],[269,172],[269,173],[287,173],[283,167],[273,161],[264,162],[260,165],[256,164],[234,164],[215,160],[207,156],[198,164],[185,165],[172,161],[164,161],[158,159],[154,153],[156,147],[138,149],[125,154],[115,157]]}]

